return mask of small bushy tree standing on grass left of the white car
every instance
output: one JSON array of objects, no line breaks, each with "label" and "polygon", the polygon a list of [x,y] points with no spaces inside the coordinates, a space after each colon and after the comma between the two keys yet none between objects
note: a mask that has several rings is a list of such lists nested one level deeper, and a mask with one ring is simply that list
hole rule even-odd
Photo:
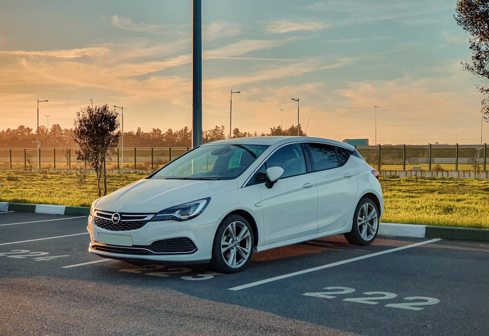
[{"label": "small bushy tree standing on grass left of the white car", "polygon": [[105,163],[115,154],[115,147],[121,135],[118,113],[109,105],[82,108],[76,113],[73,139],[78,145],[76,158],[95,170],[97,177],[98,196],[102,196],[100,182],[104,174],[104,195],[107,195],[107,172]]}]

